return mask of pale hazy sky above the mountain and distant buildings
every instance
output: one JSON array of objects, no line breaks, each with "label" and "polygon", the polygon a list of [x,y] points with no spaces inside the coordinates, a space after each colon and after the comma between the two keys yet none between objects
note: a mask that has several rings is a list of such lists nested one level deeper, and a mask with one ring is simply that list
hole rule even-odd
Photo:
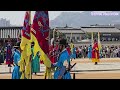
[{"label": "pale hazy sky above the mountain and distant buildings", "polygon": [[[83,12],[83,11],[49,11],[49,19],[53,20],[62,12]],[[35,11],[32,11],[32,18]],[[24,22],[25,11],[0,11],[0,18],[10,20],[12,25],[21,26]]]}]

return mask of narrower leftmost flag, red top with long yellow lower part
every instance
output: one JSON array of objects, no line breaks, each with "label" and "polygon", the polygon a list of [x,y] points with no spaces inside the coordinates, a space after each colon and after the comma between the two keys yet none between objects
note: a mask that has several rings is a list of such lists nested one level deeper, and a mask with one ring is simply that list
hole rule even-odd
[{"label": "narrower leftmost flag, red top with long yellow lower part", "polygon": [[31,64],[30,64],[30,55],[31,55],[31,42],[30,42],[30,29],[31,29],[31,11],[26,11],[24,18],[24,25],[22,29],[22,37],[20,48],[22,50],[21,60],[19,62],[20,72],[22,72],[21,79],[30,79],[31,78]]}]

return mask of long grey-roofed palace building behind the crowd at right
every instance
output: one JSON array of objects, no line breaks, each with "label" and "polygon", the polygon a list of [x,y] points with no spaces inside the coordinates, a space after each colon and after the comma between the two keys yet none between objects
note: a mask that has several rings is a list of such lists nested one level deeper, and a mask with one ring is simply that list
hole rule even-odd
[{"label": "long grey-roofed palace building behind the crowd at right", "polygon": [[[72,28],[72,27],[56,27],[56,29],[64,33],[66,38],[70,42],[71,38],[73,42],[77,45],[91,44],[91,33],[93,32],[96,35],[100,33],[100,40],[102,44],[106,45],[119,45],[120,44],[120,29],[115,26],[88,26],[88,27],[80,27],[80,28]],[[88,37],[89,34],[89,37]]]}]

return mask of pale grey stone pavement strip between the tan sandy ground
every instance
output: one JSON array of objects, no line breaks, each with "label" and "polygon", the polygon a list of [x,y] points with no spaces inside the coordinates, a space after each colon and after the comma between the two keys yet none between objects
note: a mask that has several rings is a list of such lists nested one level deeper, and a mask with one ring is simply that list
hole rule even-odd
[{"label": "pale grey stone pavement strip between the tan sandy ground", "polygon": [[[119,58],[120,59],[120,58]],[[85,60],[84,60],[85,61]],[[87,60],[86,60],[87,61]],[[75,62],[75,60],[74,60]],[[76,62],[78,62],[76,60]],[[11,67],[11,72],[13,67]],[[40,72],[45,71],[45,66],[40,65]],[[72,69],[76,72],[89,72],[89,71],[120,71],[120,60],[119,62],[100,62],[98,65],[94,63],[80,63],[78,62],[76,66]],[[7,65],[0,65],[0,73],[9,73],[9,68]]]}]

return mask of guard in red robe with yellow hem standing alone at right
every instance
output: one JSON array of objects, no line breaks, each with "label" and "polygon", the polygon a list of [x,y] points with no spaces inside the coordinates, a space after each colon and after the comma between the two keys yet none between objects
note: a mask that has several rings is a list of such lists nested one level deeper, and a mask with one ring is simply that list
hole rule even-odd
[{"label": "guard in red robe with yellow hem standing alone at right", "polygon": [[92,48],[92,62],[94,62],[95,65],[97,65],[98,62],[100,62],[100,60],[99,60],[99,48],[98,48],[97,40],[94,40],[94,45]]}]

